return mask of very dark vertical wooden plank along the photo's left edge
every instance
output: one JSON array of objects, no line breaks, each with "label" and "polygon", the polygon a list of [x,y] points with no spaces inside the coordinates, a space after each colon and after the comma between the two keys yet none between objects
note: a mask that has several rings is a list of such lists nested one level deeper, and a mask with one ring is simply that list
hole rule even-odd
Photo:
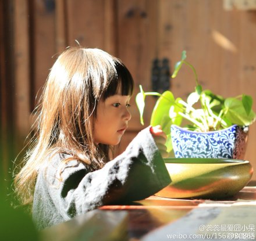
[{"label": "very dark vertical wooden plank along the photo's left edge", "polygon": [[[9,192],[13,160],[19,150],[15,142],[13,63],[13,2],[0,1],[0,186]],[[0,187],[1,189],[1,187]],[[2,190],[2,189],[1,189]]]}]

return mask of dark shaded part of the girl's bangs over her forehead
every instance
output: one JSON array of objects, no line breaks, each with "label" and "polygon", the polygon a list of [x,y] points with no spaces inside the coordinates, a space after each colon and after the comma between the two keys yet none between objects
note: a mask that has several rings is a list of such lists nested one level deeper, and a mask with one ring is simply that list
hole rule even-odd
[{"label": "dark shaded part of the girl's bangs over her forehead", "polygon": [[132,95],[133,94],[133,88],[134,88],[134,82],[133,77],[131,77],[130,71],[123,65],[122,63],[115,62],[115,69],[116,74],[113,75],[111,78],[108,87],[106,88],[106,91],[103,93],[103,100],[106,100],[106,98],[116,95],[118,92],[119,86],[121,86],[121,95]]}]

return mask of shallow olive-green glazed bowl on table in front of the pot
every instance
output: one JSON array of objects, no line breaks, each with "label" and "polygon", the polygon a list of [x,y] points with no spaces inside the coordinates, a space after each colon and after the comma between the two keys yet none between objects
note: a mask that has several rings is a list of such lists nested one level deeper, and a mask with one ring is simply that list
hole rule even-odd
[{"label": "shallow olive-green glazed bowl on table in front of the pot", "polygon": [[253,175],[249,161],[165,159],[172,182],[155,195],[170,198],[225,199],[239,192]]}]

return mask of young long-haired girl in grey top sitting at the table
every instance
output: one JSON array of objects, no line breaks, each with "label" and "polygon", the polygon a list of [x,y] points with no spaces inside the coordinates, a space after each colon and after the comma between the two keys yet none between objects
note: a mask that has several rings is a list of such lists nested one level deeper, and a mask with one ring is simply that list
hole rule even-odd
[{"label": "young long-haired girl in grey top sitting at the table", "polygon": [[[38,229],[105,204],[141,200],[170,183],[160,127],[139,132],[109,160],[131,118],[133,79],[119,59],[100,49],[68,48],[45,84],[37,135],[15,177]],[[162,154],[162,156],[161,156]]]}]

